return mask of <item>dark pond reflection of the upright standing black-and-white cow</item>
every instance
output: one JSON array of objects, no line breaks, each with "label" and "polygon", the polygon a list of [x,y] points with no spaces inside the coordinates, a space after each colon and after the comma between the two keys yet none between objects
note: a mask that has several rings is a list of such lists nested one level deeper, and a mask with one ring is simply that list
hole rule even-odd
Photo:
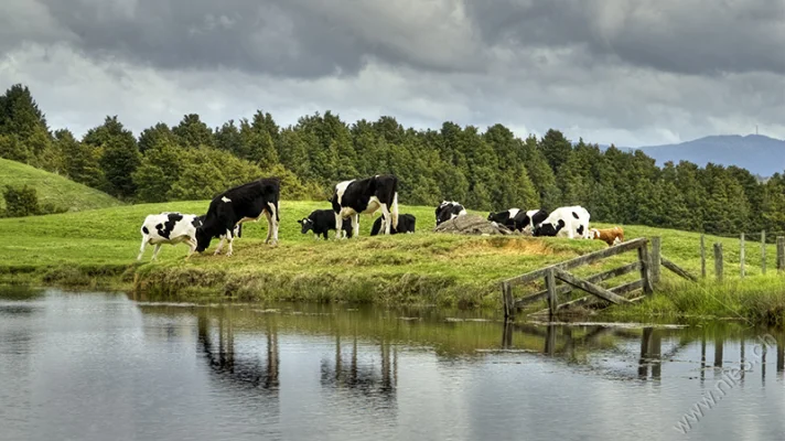
[{"label": "dark pond reflection of the upright standing black-and-white cow", "polygon": [[357,336],[351,340],[350,353],[344,354],[341,335],[335,336],[335,356],[322,358],[321,383],[324,387],[336,387],[357,391],[365,396],[376,396],[385,400],[395,399],[398,384],[398,351],[388,341],[381,340],[378,349],[381,363],[368,359],[369,352],[358,356]]}]

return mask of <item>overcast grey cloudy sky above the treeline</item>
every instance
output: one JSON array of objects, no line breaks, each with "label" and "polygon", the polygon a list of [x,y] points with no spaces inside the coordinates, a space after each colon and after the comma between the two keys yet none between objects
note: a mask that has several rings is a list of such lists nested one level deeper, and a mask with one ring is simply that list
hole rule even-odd
[{"label": "overcast grey cloudy sky above the treeline", "polygon": [[785,138],[783,0],[0,0],[54,128],[332,109],[642,146]]}]

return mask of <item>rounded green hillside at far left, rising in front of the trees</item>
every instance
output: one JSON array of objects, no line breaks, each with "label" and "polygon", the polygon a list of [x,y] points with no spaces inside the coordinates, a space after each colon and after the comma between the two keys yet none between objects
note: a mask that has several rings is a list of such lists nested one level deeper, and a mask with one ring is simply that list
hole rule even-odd
[{"label": "rounded green hillside at far left, rising in front of the trees", "polygon": [[[0,159],[0,190],[6,185],[25,184],[37,191],[41,204],[50,203],[72,212],[120,205],[119,201],[98,190],[20,162]],[[0,209],[4,208],[6,202],[0,197]]]}]

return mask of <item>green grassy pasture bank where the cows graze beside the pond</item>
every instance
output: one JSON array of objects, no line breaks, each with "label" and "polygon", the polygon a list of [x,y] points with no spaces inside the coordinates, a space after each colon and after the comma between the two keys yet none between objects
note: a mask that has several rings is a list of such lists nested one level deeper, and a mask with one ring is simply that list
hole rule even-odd
[{"label": "green grassy pasture bank where the cows graze beside the pond", "polygon": [[[501,308],[498,281],[606,247],[596,240],[435,234],[431,233],[433,207],[406,205],[401,205],[400,213],[417,216],[413,235],[368,237],[375,217],[361,216],[359,239],[314,240],[312,234],[300,233],[297,219],[313,209],[326,208],[327,204],[282,202],[277,247],[262,243],[267,225],[261,220],[245,224],[243,238],[235,241],[232,257],[213,256],[217,245],[214,240],[205,254],[195,255],[189,262],[183,260],[187,247],[179,245],[164,246],[157,262],[150,262],[152,247],[148,247],[142,261],[137,263],[141,239],[139,228],[146,215],[162,211],[201,214],[207,205],[206,201],[140,204],[0,219],[0,236],[4,236],[0,237],[0,281],[73,286],[110,282],[192,300],[229,295],[250,301]],[[641,226],[624,226],[624,229],[627,240],[662,236],[664,256],[695,275],[700,273],[699,234]],[[655,295],[639,305],[614,309],[613,313],[634,318],[685,312],[734,316],[741,312],[754,316],[744,312],[744,302],[765,298],[757,305],[750,300],[745,308],[776,314],[779,299],[785,293],[785,277],[777,277],[774,270],[775,247],[767,246],[770,271],[761,276],[760,245],[749,243],[748,279],[741,283],[738,281],[739,240],[707,236],[707,246],[714,241],[723,244],[725,283],[684,284],[663,269],[663,292],[666,294]],[[582,268],[577,273],[594,273],[634,259],[634,254],[625,254]],[[708,267],[711,279],[711,260]],[[627,276],[626,280],[632,277]],[[745,292],[752,292],[753,297],[748,299]],[[725,297],[712,300],[720,293]]]}]

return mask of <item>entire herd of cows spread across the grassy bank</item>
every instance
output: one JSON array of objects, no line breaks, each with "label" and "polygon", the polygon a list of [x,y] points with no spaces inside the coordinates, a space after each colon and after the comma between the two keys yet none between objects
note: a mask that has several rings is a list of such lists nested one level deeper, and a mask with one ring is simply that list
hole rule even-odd
[{"label": "entire herd of cows spread across the grassy bank", "polygon": [[[280,180],[260,179],[229,189],[215,196],[204,215],[162,212],[144,218],[141,226],[142,244],[137,256],[141,259],[147,245],[154,245],[152,260],[155,260],[164,244],[186,244],[194,251],[203,252],[214,238],[221,239],[215,255],[221,254],[224,243],[228,243],[227,256],[232,256],[232,244],[243,235],[243,224],[267,219],[265,244],[278,243],[280,223]],[[398,213],[398,179],[395,175],[375,175],[362,180],[338,182],[333,196],[327,200],[332,208],[315,209],[308,217],[299,219],[301,233],[313,232],[314,238],[327,239],[330,230],[335,238],[351,238],[359,235],[359,215],[381,211],[372,227],[370,235],[415,233],[416,217]],[[435,209],[437,225],[466,214],[458,202],[443,201]],[[509,208],[491,213],[487,220],[530,236],[560,236],[599,239],[612,246],[624,241],[621,227],[610,229],[589,228],[589,212],[582,206],[566,206],[548,213],[544,209],[523,211]]]}]

